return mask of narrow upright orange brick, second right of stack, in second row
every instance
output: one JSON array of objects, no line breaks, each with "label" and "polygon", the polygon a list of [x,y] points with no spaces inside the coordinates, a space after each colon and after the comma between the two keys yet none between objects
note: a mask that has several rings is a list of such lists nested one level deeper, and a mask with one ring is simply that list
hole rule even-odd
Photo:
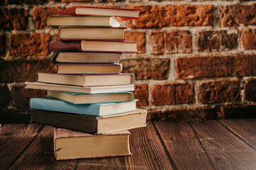
[{"label": "narrow upright orange brick, second right of stack, in second row", "polygon": [[152,54],[164,53],[164,35],[161,31],[152,32],[150,34],[150,45]]}]

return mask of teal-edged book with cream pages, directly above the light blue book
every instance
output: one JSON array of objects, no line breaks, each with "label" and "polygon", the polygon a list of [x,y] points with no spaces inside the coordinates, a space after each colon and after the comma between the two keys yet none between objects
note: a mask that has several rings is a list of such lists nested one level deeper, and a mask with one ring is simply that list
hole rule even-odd
[{"label": "teal-edged book with cream pages, directly above the light blue book", "polygon": [[114,103],[133,101],[132,92],[121,91],[107,94],[82,94],[67,91],[48,91],[47,96],[73,104]]}]

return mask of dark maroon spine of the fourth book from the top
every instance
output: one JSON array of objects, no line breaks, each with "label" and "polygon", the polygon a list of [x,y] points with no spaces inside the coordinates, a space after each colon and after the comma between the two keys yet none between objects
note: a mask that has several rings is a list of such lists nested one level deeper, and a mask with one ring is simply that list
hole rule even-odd
[{"label": "dark maroon spine of the fourth book from the top", "polygon": [[57,51],[66,51],[66,52],[75,52],[82,51],[82,42],[81,41],[72,41],[72,42],[50,42],[49,50],[52,52]]}]

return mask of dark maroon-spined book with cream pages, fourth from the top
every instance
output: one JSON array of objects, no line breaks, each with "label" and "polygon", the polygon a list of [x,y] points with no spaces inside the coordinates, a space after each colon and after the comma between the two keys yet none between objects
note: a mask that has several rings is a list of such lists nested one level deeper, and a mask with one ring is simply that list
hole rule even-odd
[{"label": "dark maroon-spined book with cream pages, fourth from the top", "polygon": [[50,42],[49,50],[52,52],[138,52],[137,43],[98,40]]}]

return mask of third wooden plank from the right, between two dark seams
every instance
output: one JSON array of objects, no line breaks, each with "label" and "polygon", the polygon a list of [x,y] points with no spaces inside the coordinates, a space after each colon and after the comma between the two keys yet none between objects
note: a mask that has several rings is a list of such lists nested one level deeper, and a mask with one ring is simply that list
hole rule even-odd
[{"label": "third wooden plank from the right, between two dark seams", "polygon": [[214,169],[189,123],[155,122],[178,169]]}]

